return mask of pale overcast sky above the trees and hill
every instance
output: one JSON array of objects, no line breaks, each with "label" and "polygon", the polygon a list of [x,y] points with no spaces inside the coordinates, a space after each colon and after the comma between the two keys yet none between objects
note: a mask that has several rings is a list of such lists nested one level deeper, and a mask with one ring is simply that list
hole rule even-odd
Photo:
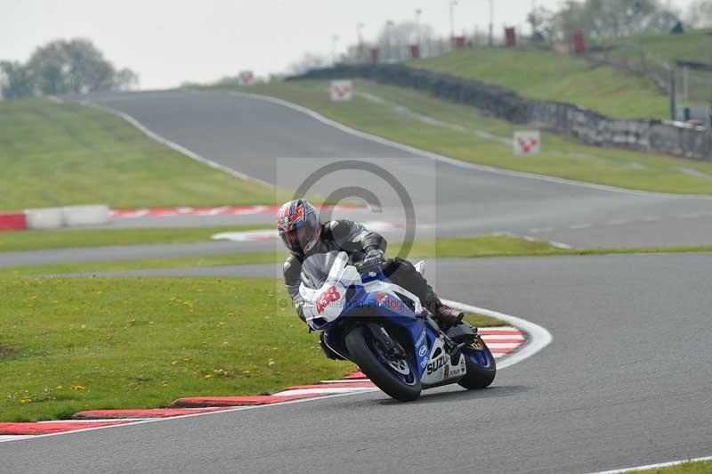
[{"label": "pale overcast sky above the trees and hill", "polygon": [[[560,0],[536,0],[554,8]],[[532,0],[494,0],[495,25],[524,25]],[[692,0],[675,0],[685,7]],[[26,61],[37,45],[88,37],[142,88],[209,81],[253,69],[279,72],[303,53],[373,38],[386,20],[421,21],[449,33],[449,0],[0,0],[0,60]],[[456,31],[485,29],[488,0],[458,0]]]}]

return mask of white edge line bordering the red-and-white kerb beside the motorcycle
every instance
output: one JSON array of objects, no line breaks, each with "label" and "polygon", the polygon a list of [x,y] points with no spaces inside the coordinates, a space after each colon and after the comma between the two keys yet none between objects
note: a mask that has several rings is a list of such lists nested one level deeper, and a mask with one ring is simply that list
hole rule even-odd
[{"label": "white edge line bordering the red-and-white kerb beside the motorcycle", "polygon": [[[506,358],[497,364],[498,369],[504,369],[506,367],[510,367],[514,364],[518,364],[522,362],[524,359],[533,356],[536,354],[538,351],[546,347],[549,342],[551,342],[552,336],[549,333],[549,331],[546,331],[543,327],[539,326],[538,324],[535,323],[530,323],[529,321],[518,318],[516,316],[512,315],[506,315],[504,313],[499,313],[497,311],[492,311],[490,309],[486,308],[481,308],[477,306],[470,306],[466,305],[465,303],[459,303],[457,301],[451,301],[451,300],[442,300],[445,304],[449,306],[454,306],[461,308],[466,311],[473,311],[475,313],[479,313],[481,315],[489,315],[492,317],[497,317],[498,319],[501,319],[503,321],[506,321],[507,323],[512,323],[515,326],[517,326],[519,329],[522,329],[523,331],[529,332],[530,339],[523,345],[522,349],[520,349],[517,352],[514,352],[514,354],[510,356],[506,356]],[[519,354],[524,353],[524,356],[519,356]],[[512,362],[510,362],[510,360]],[[0,445],[3,443],[12,443],[12,442],[17,442],[17,441],[24,441],[27,439],[37,439],[40,437],[56,437],[56,436],[62,436],[62,435],[71,435],[74,433],[81,433],[84,431],[93,431],[95,429],[117,429],[117,428],[123,428],[126,426],[135,426],[135,425],[140,425],[140,424],[145,424],[145,423],[157,423],[160,421],[171,421],[171,420],[179,420],[182,418],[190,418],[194,416],[207,416],[207,415],[214,415],[217,413],[231,413],[231,412],[239,412],[240,410],[256,410],[259,408],[269,408],[271,406],[279,406],[279,405],[291,405],[291,404],[299,404],[299,403],[304,403],[304,402],[313,402],[315,400],[323,400],[325,398],[335,398],[336,396],[354,396],[354,395],[361,395],[364,393],[368,392],[377,392],[380,391],[380,388],[365,388],[360,391],[356,392],[348,392],[348,393],[340,393],[340,394],[333,394],[333,395],[326,395],[326,396],[314,396],[312,398],[303,398],[300,400],[289,400],[286,402],[278,402],[276,404],[270,404],[270,405],[252,405],[252,406],[237,406],[234,408],[227,408],[225,410],[221,411],[215,411],[215,412],[205,412],[205,413],[190,413],[190,414],[184,414],[180,416],[172,416],[172,417],[166,417],[166,418],[152,418],[149,420],[142,420],[142,421],[135,421],[135,422],[129,422],[129,423],[124,423],[124,424],[117,424],[117,425],[109,425],[109,426],[100,426],[96,428],[85,428],[85,429],[75,429],[72,431],[63,431],[61,433],[48,433],[46,435],[32,435],[30,437],[24,437],[20,439],[0,439]]]}]

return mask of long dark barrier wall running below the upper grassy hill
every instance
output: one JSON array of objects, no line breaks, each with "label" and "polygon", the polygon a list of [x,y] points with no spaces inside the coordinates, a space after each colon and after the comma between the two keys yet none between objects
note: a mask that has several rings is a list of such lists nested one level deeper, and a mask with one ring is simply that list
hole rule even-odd
[{"label": "long dark barrier wall running below the upper grassy hill", "polygon": [[530,124],[583,143],[712,160],[712,130],[661,120],[616,120],[571,103],[523,99],[514,91],[402,64],[338,65],[312,69],[295,79],[366,78],[417,89],[450,102],[471,105],[515,124]]}]

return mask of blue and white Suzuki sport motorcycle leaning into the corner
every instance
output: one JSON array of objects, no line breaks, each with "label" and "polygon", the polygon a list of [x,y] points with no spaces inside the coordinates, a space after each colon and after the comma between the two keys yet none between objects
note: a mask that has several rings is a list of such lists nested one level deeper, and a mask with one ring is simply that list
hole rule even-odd
[{"label": "blue and white Suzuki sport motorcycle leaning into the corner", "polygon": [[[389,396],[415,400],[425,388],[488,387],[497,373],[490,349],[468,323],[441,328],[416,295],[389,281],[383,263],[322,254],[328,274],[307,278],[303,315],[325,351],[350,360]],[[425,262],[416,264],[423,274]]]}]

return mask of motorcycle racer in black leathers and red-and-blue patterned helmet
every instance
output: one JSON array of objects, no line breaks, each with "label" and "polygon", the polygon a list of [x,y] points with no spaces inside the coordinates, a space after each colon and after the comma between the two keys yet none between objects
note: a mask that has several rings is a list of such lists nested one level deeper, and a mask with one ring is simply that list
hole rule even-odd
[{"label": "motorcycle racer in black leathers and red-and-blue patterned helmet", "polygon": [[416,295],[441,325],[454,326],[463,319],[463,313],[442,304],[433,287],[408,260],[399,257],[386,260],[384,237],[363,225],[346,219],[321,223],[319,211],[307,200],[299,199],[290,200],[279,208],[277,229],[289,250],[284,264],[285,285],[302,320],[304,301],[299,285],[301,282],[310,284],[316,280],[316,274],[328,272],[328,268],[320,267],[323,260],[319,256],[333,250],[345,251],[353,262],[385,264],[384,275]]}]

